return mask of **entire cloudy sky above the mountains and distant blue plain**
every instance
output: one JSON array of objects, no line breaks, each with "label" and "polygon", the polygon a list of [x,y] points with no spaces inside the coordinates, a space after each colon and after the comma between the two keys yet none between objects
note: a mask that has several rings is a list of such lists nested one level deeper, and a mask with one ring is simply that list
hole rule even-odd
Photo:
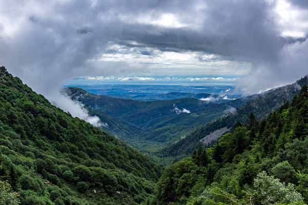
[{"label": "entire cloudy sky above the mountains and distant blue plain", "polygon": [[60,107],[80,76],[234,79],[252,94],[308,73],[307,2],[0,0],[0,64]]}]

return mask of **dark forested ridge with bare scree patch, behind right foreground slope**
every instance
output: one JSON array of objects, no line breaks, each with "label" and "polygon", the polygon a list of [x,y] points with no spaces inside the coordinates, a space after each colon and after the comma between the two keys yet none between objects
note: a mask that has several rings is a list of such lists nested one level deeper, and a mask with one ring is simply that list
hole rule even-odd
[{"label": "dark forested ridge with bare scree patch, behind right foreground slope", "polygon": [[[174,142],[163,149],[162,156],[185,156],[189,155],[199,145],[200,140],[207,144],[213,144],[223,132],[221,129],[230,129],[237,122],[247,122],[249,115],[253,113],[257,119],[262,119],[273,110],[281,106],[285,101],[290,101],[299,91],[300,87],[308,84],[308,76],[301,78],[292,85],[287,85],[243,98],[245,104],[238,107],[236,112],[209,122],[195,131],[188,133],[181,140]],[[240,99],[239,99],[240,100]],[[217,134],[217,131],[219,134]],[[216,132],[214,137],[211,133]],[[209,140],[211,139],[211,140]]]}]

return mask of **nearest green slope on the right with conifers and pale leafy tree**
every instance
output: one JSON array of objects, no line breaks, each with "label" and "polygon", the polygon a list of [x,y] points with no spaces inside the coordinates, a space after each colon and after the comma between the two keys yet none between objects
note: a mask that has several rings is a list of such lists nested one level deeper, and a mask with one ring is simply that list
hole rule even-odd
[{"label": "nearest green slope on the right with conifers and pale leafy tree", "polygon": [[308,202],[308,91],[168,167],[148,204]]}]

